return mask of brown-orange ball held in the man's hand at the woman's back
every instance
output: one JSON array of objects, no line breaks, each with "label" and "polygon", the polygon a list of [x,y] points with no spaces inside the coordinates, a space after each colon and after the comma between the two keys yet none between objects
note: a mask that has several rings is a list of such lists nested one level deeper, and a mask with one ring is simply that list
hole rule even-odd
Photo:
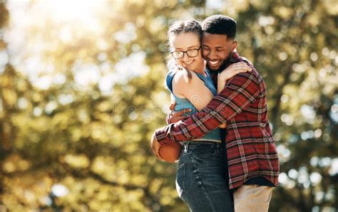
[{"label": "brown-orange ball held in the man's hand at the woman's back", "polygon": [[171,144],[163,144],[160,146],[158,150],[158,154],[160,157],[169,162],[175,163],[180,158],[180,152],[182,150],[182,145],[178,142],[172,142]]}]

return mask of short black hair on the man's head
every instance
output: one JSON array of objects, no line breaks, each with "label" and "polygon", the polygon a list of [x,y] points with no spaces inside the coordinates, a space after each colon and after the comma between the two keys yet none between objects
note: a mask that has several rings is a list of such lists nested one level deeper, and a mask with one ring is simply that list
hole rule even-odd
[{"label": "short black hair on the man's head", "polygon": [[209,16],[202,23],[203,32],[227,35],[227,38],[235,38],[236,26],[234,19],[223,15]]}]

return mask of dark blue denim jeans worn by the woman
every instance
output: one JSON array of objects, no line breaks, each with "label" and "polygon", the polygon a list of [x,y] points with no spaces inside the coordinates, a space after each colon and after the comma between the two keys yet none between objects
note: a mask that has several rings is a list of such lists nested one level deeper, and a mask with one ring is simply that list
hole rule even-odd
[{"label": "dark blue denim jeans worn by the woman", "polygon": [[183,144],[176,174],[178,196],[190,211],[234,211],[228,187],[224,144]]}]

